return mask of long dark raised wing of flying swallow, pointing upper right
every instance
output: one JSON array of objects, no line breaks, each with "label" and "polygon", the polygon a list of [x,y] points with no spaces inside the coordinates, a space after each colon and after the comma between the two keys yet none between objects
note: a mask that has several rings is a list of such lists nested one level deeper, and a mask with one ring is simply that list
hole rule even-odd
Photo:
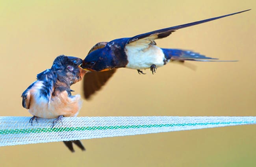
[{"label": "long dark raised wing of flying swallow, pointing upper right", "polygon": [[[245,11],[249,11],[249,10],[250,9],[245,10]],[[239,11],[239,12],[231,13],[231,14],[228,14],[228,15],[208,18],[206,20],[200,20],[200,21],[197,21],[197,22],[191,22],[191,23],[182,24],[182,25],[179,25],[179,26],[174,26],[174,27],[169,27],[169,28],[164,28],[164,29],[158,29],[156,31],[143,33],[143,34],[136,35],[136,36],[130,38],[128,40],[127,44],[130,44],[130,43],[138,41],[138,40],[154,41],[155,39],[165,38],[165,37],[168,37],[172,32],[176,31],[177,29],[186,28],[186,27],[189,27],[189,26],[194,26],[194,25],[197,25],[197,24],[205,23],[205,22],[210,22],[212,20],[217,20],[219,18],[228,17],[228,16],[231,16],[231,15],[236,15],[238,13],[242,13],[242,12],[245,12],[245,11]]]}]

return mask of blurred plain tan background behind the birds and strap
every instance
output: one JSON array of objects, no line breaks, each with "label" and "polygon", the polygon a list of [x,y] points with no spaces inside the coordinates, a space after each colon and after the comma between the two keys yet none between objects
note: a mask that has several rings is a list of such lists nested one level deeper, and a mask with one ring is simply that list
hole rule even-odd
[{"label": "blurred plain tan background behind the birds and strap", "polygon": [[[1,116],[31,116],[22,92],[56,56],[85,57],[100,41],[237,11],[157,40],[239,62],[189,62],[155,75],[119,69],[79,116],[256,116],[255,0],[0,1]],[[82,82],[72,86],[82,93]],[[255,125],[83,140],[86,152],[62,142],[0,147],[4,166],[254,167]]]}]

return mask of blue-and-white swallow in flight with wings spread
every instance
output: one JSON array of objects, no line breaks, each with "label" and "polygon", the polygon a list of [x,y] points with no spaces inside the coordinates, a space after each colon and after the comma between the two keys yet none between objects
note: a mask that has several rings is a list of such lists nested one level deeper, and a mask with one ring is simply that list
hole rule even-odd
[{"label": "blue-and-white swallow in flight with wings spread", "polygon": [[87,73],[85,77],[89,77],[91,80],[98,82],[100,76],[102,82],[98,82],[96,86],[90,87],[90,85],[88,85],[89,83],[84,81],[83,89],[85,98],[89,98],[91,94],[96,90],[99,90],[113,73],[115,73],[117,68],[135,69],[138,73],[143,73],[141,71],[142,69],[150,68],[151,72],[155,73],[156,68],[161,67],[170,61],[218,61],[215,58],[206,57],[189,50],[159,48],[156,46],[154,40],[168,37],[171,33],[181,28],[236,15],[245,11],[159,29],[136,35],[131,38],[115,39],[110,42],[99,42],[89,51],[88,55],[83,60],[81,67],[93,72]]}]

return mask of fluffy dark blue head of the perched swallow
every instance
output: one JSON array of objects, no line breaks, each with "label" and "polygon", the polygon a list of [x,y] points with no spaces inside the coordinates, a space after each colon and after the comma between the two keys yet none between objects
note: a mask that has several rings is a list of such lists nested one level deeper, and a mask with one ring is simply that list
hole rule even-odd
[{"label": "fluffy dark blue head of the perched swallow", "polygon": [[56,57],[52,64],[52,70],[57,72],[58,79],[72,85],[80,81],[85,70],[80,68],[83,60],[78,57],[61,55]]}]

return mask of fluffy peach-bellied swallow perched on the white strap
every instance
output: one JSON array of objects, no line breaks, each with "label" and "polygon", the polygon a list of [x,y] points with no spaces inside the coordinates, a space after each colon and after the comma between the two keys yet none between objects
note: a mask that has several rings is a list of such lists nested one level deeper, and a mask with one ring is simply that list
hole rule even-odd
[{"label": "fluffy peach-bellied swallow perched on the white strap", "polygon": [[[80,95],[71,95],[70,86],[77,83],[86,73],[79,67],[82,59],[61,55],[58,56],[50,69],[37,74],[37,81],[33,82],[21,95],[22,106],[37,117],[56,118],[52,127],[61,121],[62,117],[78,115],[82,107]],[[70,151],[74,152],[72,143],[85,150],[79,140],[64,141]]]}]

